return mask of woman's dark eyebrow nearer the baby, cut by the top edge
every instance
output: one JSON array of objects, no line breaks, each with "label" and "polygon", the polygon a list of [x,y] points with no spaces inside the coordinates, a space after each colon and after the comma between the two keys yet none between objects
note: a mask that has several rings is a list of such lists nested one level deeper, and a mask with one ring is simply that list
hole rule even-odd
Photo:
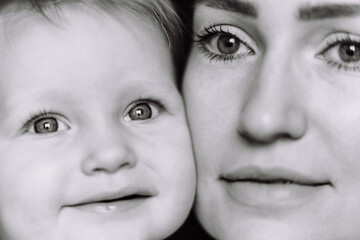
[{"label": "woman's dark eyebrow nearer the baby, cut by the top edge", "polygon": [[196,0],[198,4],[204,4],[208,7],[221,9],[229,12],[236,12],[242,15],[257,18],[258,13],[254,4],[241,0]]}]

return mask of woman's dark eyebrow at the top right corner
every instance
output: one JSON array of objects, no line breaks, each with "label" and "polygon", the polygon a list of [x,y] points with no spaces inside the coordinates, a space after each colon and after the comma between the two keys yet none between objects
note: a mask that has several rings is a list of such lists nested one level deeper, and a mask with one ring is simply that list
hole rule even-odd
[{"label": "woman's dark eyebrow at the top right corner", "polygon": [[360,4],[324,4],[303,6],[299,9],[300,21],[360,16]]}]

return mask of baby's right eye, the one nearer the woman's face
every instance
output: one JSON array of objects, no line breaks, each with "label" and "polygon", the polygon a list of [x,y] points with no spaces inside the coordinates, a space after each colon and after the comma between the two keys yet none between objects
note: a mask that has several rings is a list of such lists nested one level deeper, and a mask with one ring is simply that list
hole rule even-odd
[{"label": "baby's right eye, the one nearer the woman's face", "polygon": [[160,103],[153,100],[137,102],[126,111],[125,121],[145,121],[156,118],[160,113],[161,106]]}]

